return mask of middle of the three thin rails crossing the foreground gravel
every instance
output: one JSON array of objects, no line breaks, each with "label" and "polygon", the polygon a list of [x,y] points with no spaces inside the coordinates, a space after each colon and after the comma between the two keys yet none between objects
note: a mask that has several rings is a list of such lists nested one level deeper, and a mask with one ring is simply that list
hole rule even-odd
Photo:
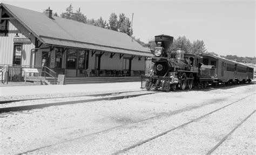
[{"label": "middle of the three thin rails crossing the foreground gravel", "polygon": [[[256,93],[254,93],[254,94],[256,94]],[[251,95],[253,95],[253,94],[251,94]],[[241,100],[244,100],[245,98],[247,98],[247,97],[249,97],[249,96],[251,96],[251,95],[248,95],[248,96],[246,96],[246,97],[243,97],[243,98],[241,98],[240,100],[237,100],[237,101],[235,101],[235,102],[232,102],[232,103],[230,103],[230,104],[227,104],[227,105],[225,105],[224,107],[218,108],[218,109],[216,109],[216,110],[214,110],[214,111],[208,112],[207,114],[205,114],[205,115],[203,115],[203,116],[200,116],[200,117],[198,117],[198,118],[192,119],[191,121],[188,121],[188,122],[186,122],[186,123],[184,123],[184,124],[181,124],[181,125],[179,125],[179,126],[177,126],[177,127],[175,127],[175,128],[172,128],[172,129],[170,129],[170,130],[164,131],[164,132],[162,132],[162,133],[160,133],[160,134],[158,134],[158,135],[156,135],[156,136],[153,136],[153,137],[151,137],[151,138],[148,138],[148,139],[146,139],[146,140],[143,140],[142,142],[136,143],[136,144],[134,144],[134,145],[132,145],[132,146],[126,147],[125,149],[122,149],[122,150],[119,150],[119,151],[117,151],[117,152],[114,152],[114,153],[112,153],[112,155],[124,153],[124,152],[126,152],[126,151],[128,151],[128,150],[133,149],[134,147],[137,147],[137,146],[140,146],[140,145],[142,145],[142,144],[144,144],[144,143],[150,142],[151,140],[156,139],[156,138],[158,138],[158,137],[160,137],[160,136],[163,136],[163,135],[165,135],[166,133],[169,133],[169,132],[171,132],[171,131],[173,131],[173,130],[176,130],[176,129],[180,129],[180,128],[182,128],[182,127],[185,126],[185,125],[188,125],[188,124],[190,124],[190,123],[196,122],[196,121],[198,121],[199,119],[204,118],[204,117],[206,117],[206,116],[208,116],[208,115],[210,115],[210,114],[212,114],[212,113],[214,113],[214,112],[216,112],[216,111],[219,111],[219,110],[221,110],[221,109],[223,109],[223,108],[226,108],[226,107],[228,107],[228,106],[230,106],[230,105],[232,105],[232,104],[234,104],[234,103],[237,103],[237,102],[239,102],[239,101],[241,101]]]}]

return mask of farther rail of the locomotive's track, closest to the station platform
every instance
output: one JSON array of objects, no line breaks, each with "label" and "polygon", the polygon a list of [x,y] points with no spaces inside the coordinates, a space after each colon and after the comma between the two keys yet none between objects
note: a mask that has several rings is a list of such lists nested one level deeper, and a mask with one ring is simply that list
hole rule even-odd
[{"label": "farther rail of the locomotive's track, closest to the station platform", "polygon": [[[137,91],[145,91],[145,90],[137,90]],[[130,93],[136,91],[118,91],[113,93],[103,93],[103,94],[91,94],[91,95],[76,95],[76,96],[62,96],[62,97],[44,97],[44,98],[28,98],[28,99],[20,99],[20,100],[5,100],[0,101],[0,104],[11,103],[11,102],[20,102],[20,101],[30,101],[30,100],[45,100],[45,99],[52,99],[52,98],[68,98],[68,97],[83,97],[83,96],[107,96],[112,94],[121,94],[121,93]]]}]

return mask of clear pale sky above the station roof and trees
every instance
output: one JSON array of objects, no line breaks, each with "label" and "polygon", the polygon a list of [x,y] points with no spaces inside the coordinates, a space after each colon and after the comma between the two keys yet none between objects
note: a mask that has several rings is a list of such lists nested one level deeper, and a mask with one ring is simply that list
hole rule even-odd
[{"label": "clear pale sky above the station roof and trees", "polygon": [[59,1],[2,0],[0,3],[43,12],[51,8],[60,15],[72,4],[87,19],[109,20],[112,12],[132,19],[133,36],[147,43],[154,36],[166,34],[203,40],[208,52],[219,55],[255,57],[256,3],[254,0],[169,0],[169,1]]}]

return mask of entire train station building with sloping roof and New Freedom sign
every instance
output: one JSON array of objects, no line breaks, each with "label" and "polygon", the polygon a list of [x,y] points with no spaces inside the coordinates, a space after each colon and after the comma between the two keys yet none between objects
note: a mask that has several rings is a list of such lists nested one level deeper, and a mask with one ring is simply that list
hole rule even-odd
[{"label": "entire train station building with sloping roof and New Freedom sign", "polygon": [[125,33],[56,17],[50,8],[1,3],[0,21],[0,65],[39,66],[67,77],[136,76],[152,57]]}]

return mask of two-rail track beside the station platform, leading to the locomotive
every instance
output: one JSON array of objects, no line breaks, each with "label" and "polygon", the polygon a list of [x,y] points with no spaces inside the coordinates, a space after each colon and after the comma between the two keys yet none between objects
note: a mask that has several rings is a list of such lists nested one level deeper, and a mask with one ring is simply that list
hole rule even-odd
[{"label": "two-rail track beside the station platform, leading to the locomotive", "polygon": [[[142,91],[142,90],[139,90],[139,91]],[[136,91],[123,91],[123,92],[117,92],[117,93],[68,96],[68,97],[81,97],[81,96],[107,96],[107,97],[92,98],[92,99],[77,100],[77,101],[65,101],[65,102],[55,102],[55,103],[43,103],[43,104],[32,104],[32,105],[21,105],[21,106],[14,106],[14,107],[5,107],[5,108],[0,108],[0,113],[10,112],[10,111],[20,111],[20,110],[41,109],[41,108],[50,107],[50,106],[53,106],[53,105],[76,104],[76,103],[86,103],[86,102],[95,102],[95,101],[104,101],[104,100],[120,100],[120,99],[123,99],[123,98],[131,98],[131,97],[137,97],[137,96],[142,96],[142,95],[149,95],[149,94],[159,93],[159,92],[155,92],[155,91],[149,91],[148,93],[145,93],[145,94],[116,96],[117,94],[131,93],[131,92],[136,92]],[[52,97],[52,98],[64,98],[64,97]],[[18,102],[18,101],[29,101],[29,100],[52,99],[52,98],[33,98],[33,99],[24,99],[24,100],[10,100],[7,103]]]}]

